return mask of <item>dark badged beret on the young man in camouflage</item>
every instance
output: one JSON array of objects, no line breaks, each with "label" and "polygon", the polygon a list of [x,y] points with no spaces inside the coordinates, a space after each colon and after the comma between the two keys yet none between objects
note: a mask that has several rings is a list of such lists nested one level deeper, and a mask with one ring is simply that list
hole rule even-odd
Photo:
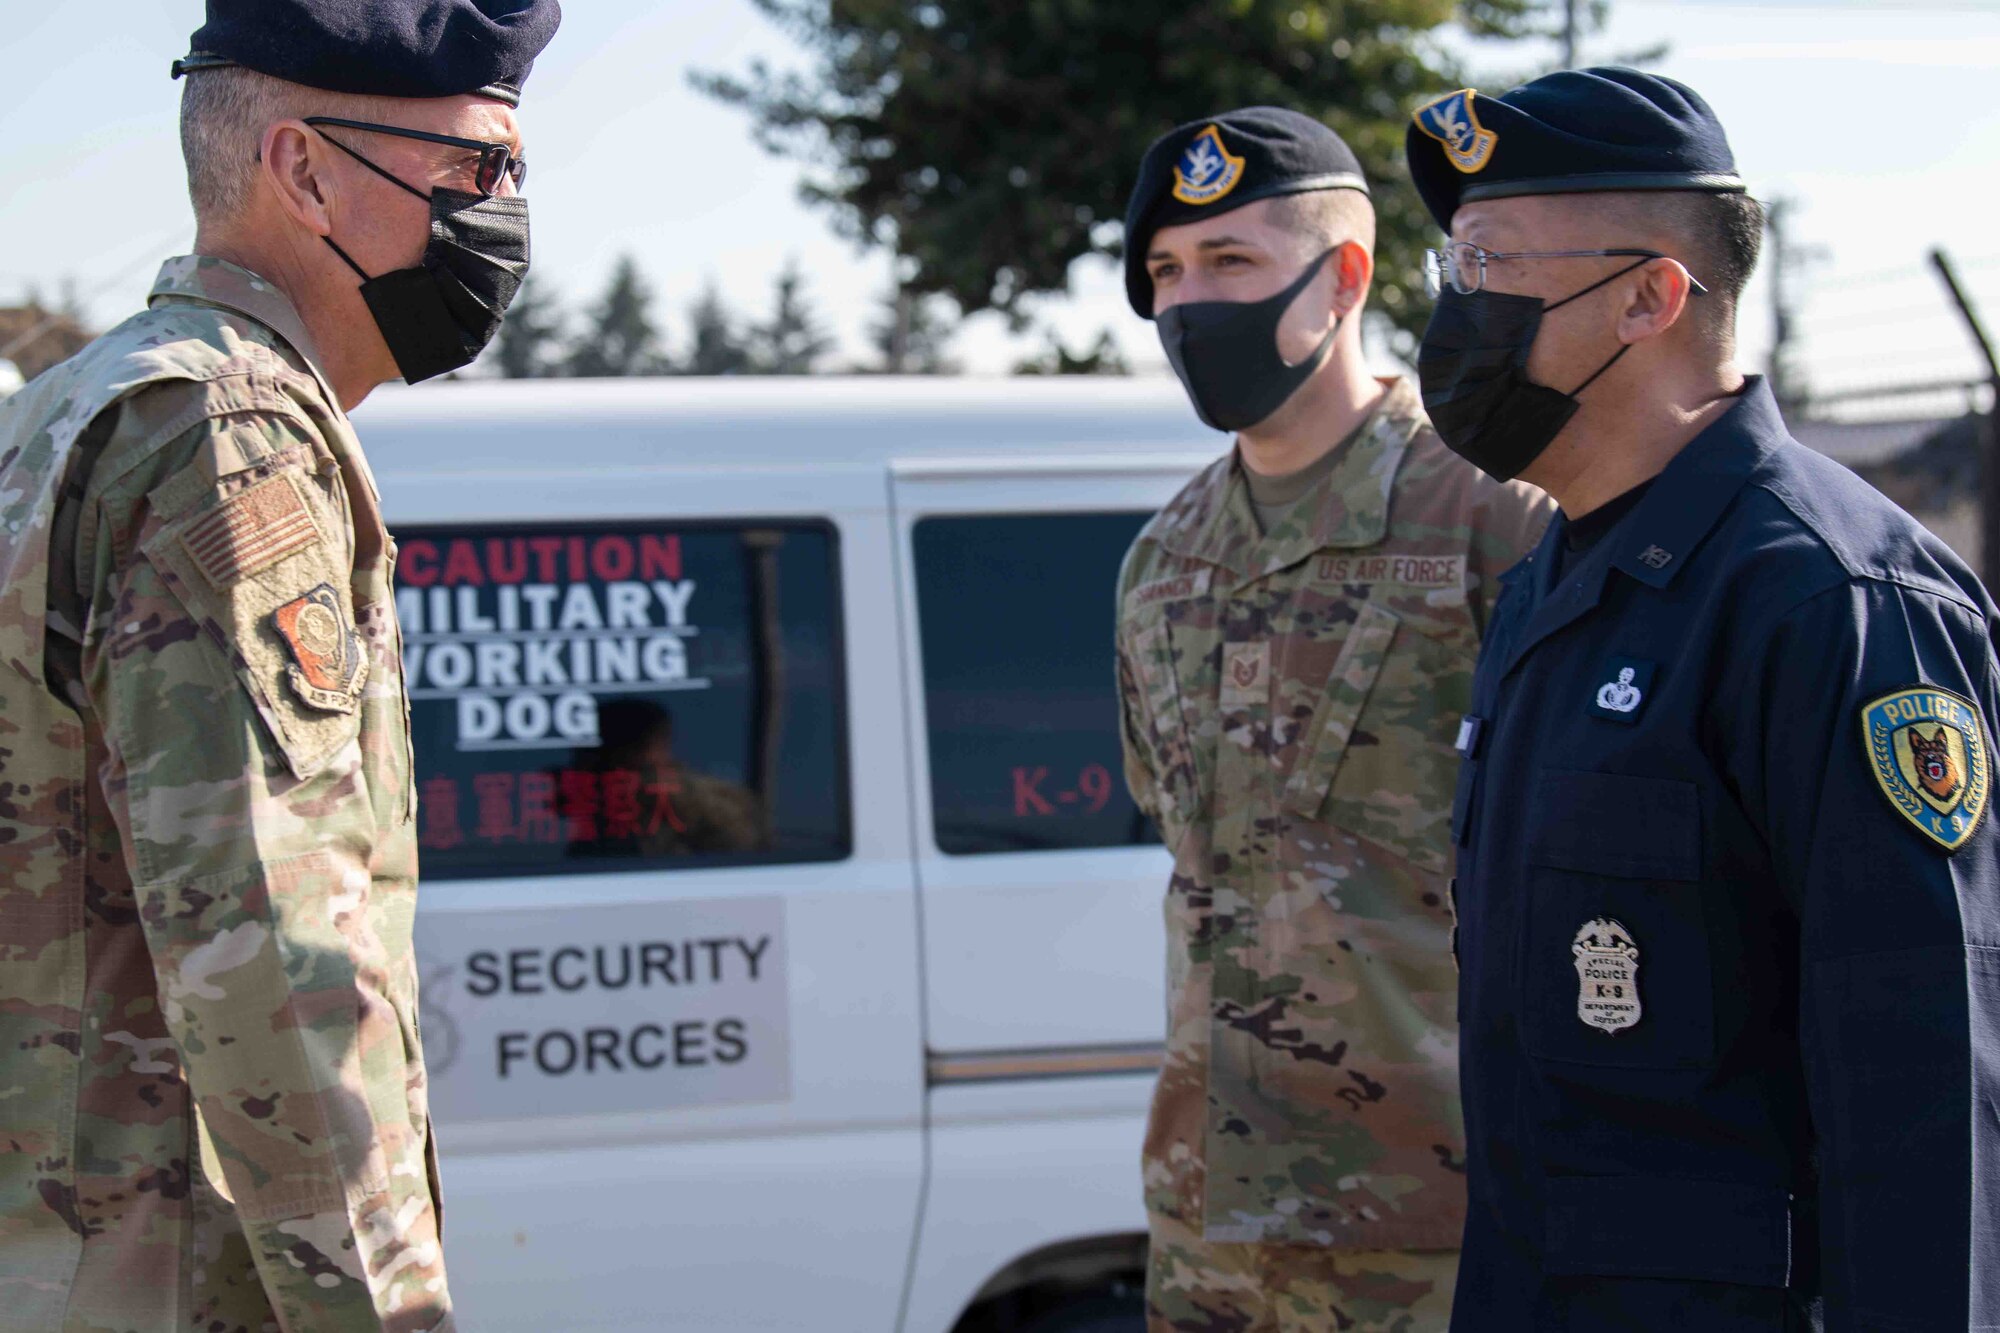
[{"label": "dark badged beret on the young man in camouflage", "polygon": [[1282,106],[1246,106],[1162,134],[1138,164],[1126,204],[1126,298],[1152,318],[1146,248],[1162,226],[1212,218],[1274,194],[1368,192],[1338,134]]}]

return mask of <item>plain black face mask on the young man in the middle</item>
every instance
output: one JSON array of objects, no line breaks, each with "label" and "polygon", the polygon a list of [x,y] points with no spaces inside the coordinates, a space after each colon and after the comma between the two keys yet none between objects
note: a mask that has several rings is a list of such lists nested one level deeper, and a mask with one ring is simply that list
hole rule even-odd
[{"label": "plain black face mask on the young man in the middle", "polygon": [[1282,408],[1326,362],[1338,320],[1296,366],[1278,354],[1278,322],[1330,254],[1306,264],[1292,286],[1266,300],[1196,300],[1160,312],[1160,346],[1196,416],[1216,430],[1246,430]]}]

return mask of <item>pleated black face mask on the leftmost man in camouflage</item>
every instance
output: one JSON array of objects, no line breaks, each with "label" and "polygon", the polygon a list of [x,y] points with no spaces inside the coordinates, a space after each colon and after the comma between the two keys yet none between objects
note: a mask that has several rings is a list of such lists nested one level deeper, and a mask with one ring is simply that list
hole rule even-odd
[{"label": "pleated black face mask on the leftmost man in camouflage", "polygon": [[528,276],[528,200],[464,190],[424,194],[346,144],[328,142],[384,180],[430,200],[430,244],[416,268],[370,278],[332,236],[326,238],[362,278],[362,300],[402,378],[416,384],[470,366],[500,332],[500,318]]}]

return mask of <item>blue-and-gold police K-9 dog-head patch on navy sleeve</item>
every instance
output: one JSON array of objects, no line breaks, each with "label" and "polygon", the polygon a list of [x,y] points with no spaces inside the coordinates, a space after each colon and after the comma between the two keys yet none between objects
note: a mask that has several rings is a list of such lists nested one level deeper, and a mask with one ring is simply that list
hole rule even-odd
[{"label": "blue-and-gold police K-9 dog-head patch on navy sleeve", "polygon": [[1948,853],[1966,845],[1992,791],[1986,729],[1970,701],[1930,687],[1884,695],[1862,709],[1862,745],[1898,815]]}]

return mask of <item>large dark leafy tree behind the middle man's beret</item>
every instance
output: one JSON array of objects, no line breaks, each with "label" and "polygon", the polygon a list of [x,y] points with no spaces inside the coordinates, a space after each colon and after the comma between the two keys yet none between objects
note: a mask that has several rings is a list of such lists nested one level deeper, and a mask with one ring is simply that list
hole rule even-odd
[{"label": "large dark leafy tree behind the middle man's beret", "polygon": [[[1022,314],[1116,256],[1146,146],[1190,116],[1292,106],[1322,118],[1374,182],[1374,308],[1422,328],[1436,236],[1402,158],[1410,110],[1470,82],[1458,36],[1550,54],[1564,0],[754,0],[808,54],[794,72],[696,74],[750,112],[758,142],[808,164],[808,202],[892,246],[916,292]],[[1584,6],[1586,30],[1602,2]],[[1486,56],[1490,60],[1490,56]]]}]

